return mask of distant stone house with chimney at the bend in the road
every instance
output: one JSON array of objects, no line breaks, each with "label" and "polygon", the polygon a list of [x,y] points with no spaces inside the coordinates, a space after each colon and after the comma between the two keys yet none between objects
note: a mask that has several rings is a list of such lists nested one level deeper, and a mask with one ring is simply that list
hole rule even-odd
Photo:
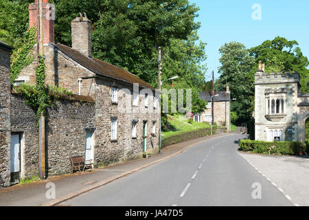
[{"label": "distant stone house with chimney at the bend in the road", "polygon": [[[207,107],[201,114],[194,115],[196,122],[211,123],[211,91],[202,91],[200,98],[207,101]],[[227,91],[214,91],[214,122],[220,126],[226,126],[227,132],[231,130],[231,92],[229,85]]]}]

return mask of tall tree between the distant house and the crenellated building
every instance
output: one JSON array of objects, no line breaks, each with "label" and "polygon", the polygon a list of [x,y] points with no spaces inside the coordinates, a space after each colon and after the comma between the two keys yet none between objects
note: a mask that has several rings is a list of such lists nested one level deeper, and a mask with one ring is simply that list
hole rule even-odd
[{"label": "tall tree between the distant house and the crenellated building", "polygon": [[253,111],[254,85],[251,69],[254,58],[242,43],[230,42],[220,47],[221,54],[218,68],[220,77],[216,80],[216,90],[226,90],[227,84],[231,91],[231,111],[236,111],[240,121],[248,120]]}]

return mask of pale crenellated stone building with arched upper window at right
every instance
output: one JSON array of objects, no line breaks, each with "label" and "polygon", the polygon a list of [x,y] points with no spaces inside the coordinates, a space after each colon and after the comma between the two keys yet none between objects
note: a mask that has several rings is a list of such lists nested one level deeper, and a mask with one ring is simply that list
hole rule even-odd
[{"label": "pale crenellated stone building with arched upper window at right", "polygon": [[255,140],[304,142],[309,94],[300,94],[297,72],[255,74]]}]

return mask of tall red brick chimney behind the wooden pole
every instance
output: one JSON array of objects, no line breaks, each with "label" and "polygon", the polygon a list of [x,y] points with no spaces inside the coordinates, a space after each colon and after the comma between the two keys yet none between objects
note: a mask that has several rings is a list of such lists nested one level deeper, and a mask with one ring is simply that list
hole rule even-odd
[{"label": "tall red brick chimney behind the wooden pole", "polygon": [[[55,43],[54,8],[48,0],[43,0],[43,43]],[[38,0],[29,5],[29,28],[33,26],[38,28]]]}]

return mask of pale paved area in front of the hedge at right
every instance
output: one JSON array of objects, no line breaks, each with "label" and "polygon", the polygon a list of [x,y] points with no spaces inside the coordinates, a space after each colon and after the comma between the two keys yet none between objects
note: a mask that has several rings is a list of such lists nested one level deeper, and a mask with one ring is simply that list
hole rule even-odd
[{"label": "pale paved area in front of the hedge at right", "polygon": [[296,206],[309,206],[309,156],[240,155]]}]

